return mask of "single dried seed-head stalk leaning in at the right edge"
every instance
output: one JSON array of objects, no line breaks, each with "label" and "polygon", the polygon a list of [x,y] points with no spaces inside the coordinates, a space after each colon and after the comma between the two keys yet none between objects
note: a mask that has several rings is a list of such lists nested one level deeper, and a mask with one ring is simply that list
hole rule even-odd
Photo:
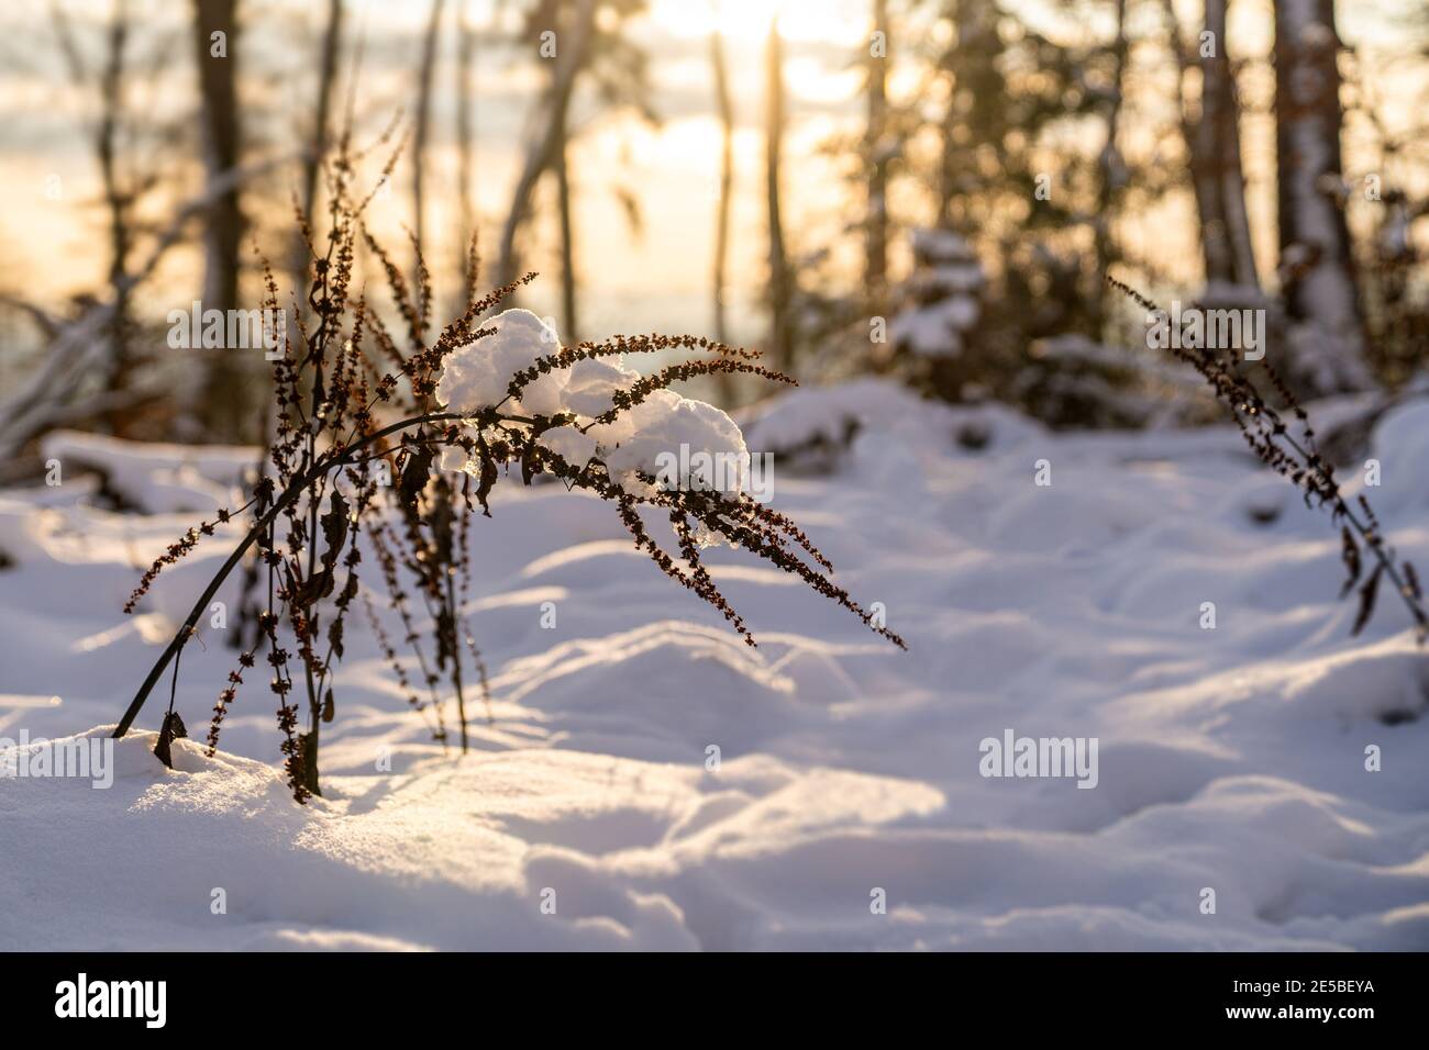
[{"label": "single dried seed-head stalk leaning in at the right edge", "polygon": [[[1127,296],[1149,314],[1165,311],[1150,299],[1123,284],[1115,277],[1107,283]],[[1240,361],[1232,353],[1218,353],[1213,349],[1177,347],[1170,353],[1190,364],[1210,384],[1216,400],[1230,411],[1250,450],[1278,474],[1300,490],[1306,507],[1328,507],[1330,519],[1340,527],[1340,560],[1345,564],[1345,586],[1340,597],[1359,589],[1359,610],[1350,634],[1358,636],[1375,613],[1379,597],[1380,577],[1388,576],[1415,621],[1415,633],[1420,644],[1429,637],[1429,614],[1425,613],[1423,590],[1413,564],[1399,559],[1395,549],[1385,541],[1379,520],[1369,500],[1358,496],[1353,506],[1345,499],[1335,464],[1325,459],[1316,443],[1309,413],[1290,393],[1289,386],[1269,364],[1260,361],[1265,383],[1279,399],[1279,406],[1270,403],[1262,387],[1242,370]],[[1292,423],[1295,419],[1293,433]],[[1366,577],[1363,551],[1373,559],[1373,567]]]}]

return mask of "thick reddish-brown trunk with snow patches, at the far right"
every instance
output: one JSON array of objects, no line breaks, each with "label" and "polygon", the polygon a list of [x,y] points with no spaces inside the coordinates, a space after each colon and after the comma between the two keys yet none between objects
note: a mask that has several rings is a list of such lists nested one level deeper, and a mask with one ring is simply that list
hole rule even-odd
[{"label": "thick reddish-brown trunk with snow patches, at the far right", "polygon": [[1340,76],[1333,0],[1275,0],[1280,274],[1292,321],[1333,346],[1312,364],[1316,393],[1363,389],[1363,327],[1340,204]]}]

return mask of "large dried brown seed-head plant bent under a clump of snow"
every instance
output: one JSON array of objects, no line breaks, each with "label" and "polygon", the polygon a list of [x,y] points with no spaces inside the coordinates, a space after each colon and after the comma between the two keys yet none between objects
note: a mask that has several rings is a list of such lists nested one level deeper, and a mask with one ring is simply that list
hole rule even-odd
[{"label": "large dried brown seed-head plant bent under a clump of snow", "polygon": [[[383,179],[390,177],[396,156],[393,151]],[[749,644],[755,644],[753,636],[702,561],[700,549],[710,537],[746,547],[797,576],[906,649],[900,637],[876,623],[833,583],[829,560],[783,514],[739,491],[662,487],[652,474],[612,470],[602,457],[603,446],[593,436],[627,423],[640,406],[659,397],[672,383],[732,373],[792,383],[756,364],[757,354],[692,336],[616,336],[567,349],[557,344],[552,353],[514,370],[497,403],[476,410],[443,409],[439,383],[449,359],[462,351],[463,360],[479,360],[487,346],[484,340],[497,331],[497,327],[480,327],[480,319],[534,274],[477,297],[473,244],[467,307],[433,339],[427,267],[416,251],[416,273],[409,280],[364,227],[363,213],[372,194],[354,200],[359,159],[343,136],[334,159],[326,166],[330,204],[322,253],[313,249],[312,230],[299,213],[299,229],[310,254],[306,306],[312,320],[300,317],[299,337],[286,340],[282,359],[273,364],[274,427],[263,476],[247,503],[217,514],[219,523],[247,516],[247,533],[149,671],[120,719],[116,737],[130,729],[173,664],[169,710],[156,749],[167,764],[173,739],[184,734],[174,710],[179,656],[219,587],[247,559],[249,580],[259,591],[250,597],[256,597],[260,611],[253,640],[243,646],[237,667],[213,709],[207,734],[210,753],[244,684],[244,671],[263,659],[270,667],[269,689],[276,701],[283,766],[293,796],[302,803],[320,793],[320,731],[323,723],[334,717],[334,664],[343,657],[347,616],[359,600],[407,701],[430,719],[433,734],[443,741],[447,739],[443,681],[450,686],[466,750],[469,711],[463,664],[467,660],[490,710],[486,666],[462,616],[472,584],[467,529],[474,517],[473,497],[482,513],[490,516],[492,490],[503,471],[517,473],[527,484],[542,474],[554,476],[570,489],[584,489],[612,503],[634,546],[646,551],[662,573],[717,609]],[[404,329],[400,337],[386,329],[364,293],[353,289],[359,244],[366,246],[386,274]],[[276,310],[277,284],[266,260],[260,261],[267,289],[264,307]],[[673,364],[647,377],[620,370],[632,376],[632,381],[613,389],[609,406],[587,416],[569,410],[542,414],[527,407],[539,406],[533,394],[544,377],[564,373],[582,361],[670,349],[712,356]],[[567,459],[562,450],[569,453],[582,440],[589,441],[593,454],[583,453],[580,461]],[[439,457],[447,470],[433,470]],[[460,473],[450,470],[453,460]],[[679,557],[650,534],[642,507],[669,520]],[[137,607],[164,566],[184,557],[214,531],[214,524],[204,521],[170,546],[144,573],[126,611]],[[379,563],[389,603],[402,620],[402,643],[416,657],[420,683],[413,681],[403,666],[359,574],[363,536]]]}]

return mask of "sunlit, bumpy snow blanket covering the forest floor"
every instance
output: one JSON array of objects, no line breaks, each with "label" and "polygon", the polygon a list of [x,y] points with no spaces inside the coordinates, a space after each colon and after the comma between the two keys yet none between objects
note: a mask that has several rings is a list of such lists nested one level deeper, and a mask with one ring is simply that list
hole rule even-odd
[{"label": "sunlit, bumpy snow blanket covering the forest floor", "polygon": [[[862,381],[803,391],[783,436],[820,401],[863,427],[773,506],[910,653],[716,551],[749,650],[607,506],[503,481],[473,523],[494,721],[472,754],[426,737],[354,620],[307,807],[262,681],[213,760],[180,741],[166,770],[146,731],[109,790],[0,780],[0,949],[1429,947],[1426,656],[1392,593],[1349,639],[1335,533],[1235,433],[1052,436]],[[987,441],[959,446],[966,427]],[[1375,443],[1376,507],[1429,564],[1429,403]],[[121,616],[190,523],[94,510],[69,476],[0,493],[0,736],[117,719],[229,549],[204,540]],[[201,739],[234,653],[209,626],[197,643],[179,710]],[[983,779],[1005,729],[1097,737],[1097,787]]]}]

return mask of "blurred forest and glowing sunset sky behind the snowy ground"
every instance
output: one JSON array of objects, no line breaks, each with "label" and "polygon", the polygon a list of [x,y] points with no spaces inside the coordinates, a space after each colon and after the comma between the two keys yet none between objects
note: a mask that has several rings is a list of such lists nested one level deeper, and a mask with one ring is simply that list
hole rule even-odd
[{"label": "blurred forest and glowing sunset sky behind the snowy ground", "polygon": [[1213,417],[1109,271],[1266,310],[1303,396],[1422,369],[1419,0],[33,0],[0,20],[6,479],[61,426],[260,440],[262,350],[171,349],[166,317],[256,307],[259,253],[287,294],[294,209],[322,230],[349,113],[359,146],[406,136],[367,220],[420,246],[439,313],[474,233],[482,286],[539,270],[520,303],[567,343],[707,334],[805,383],[889,374],[1057,426]]}]

